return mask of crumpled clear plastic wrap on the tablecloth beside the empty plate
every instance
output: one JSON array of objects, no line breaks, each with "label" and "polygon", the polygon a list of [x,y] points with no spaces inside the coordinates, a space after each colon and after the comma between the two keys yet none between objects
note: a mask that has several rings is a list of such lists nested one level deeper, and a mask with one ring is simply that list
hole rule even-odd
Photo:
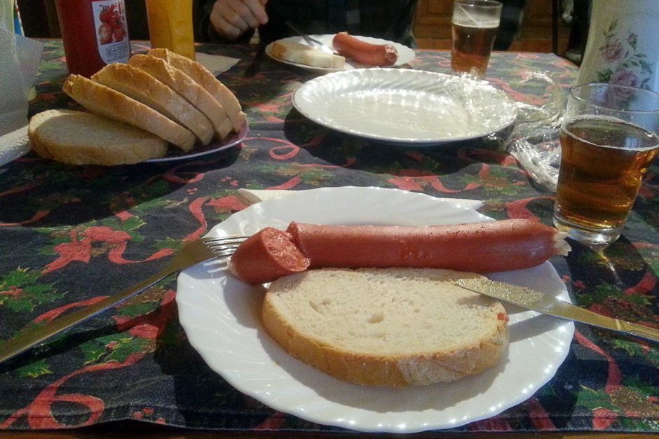
[{"label": "crumpled clear plastic wrap on the tablecloth beside the empty plate", "polygon": [[538,106],[517,102],[515,128],[506,149],[539,189],[555,193],[561,162],[559,133],[564,92],[547,72],[530,71],[522,83],[529,81],[546,84],[544,103]]}]

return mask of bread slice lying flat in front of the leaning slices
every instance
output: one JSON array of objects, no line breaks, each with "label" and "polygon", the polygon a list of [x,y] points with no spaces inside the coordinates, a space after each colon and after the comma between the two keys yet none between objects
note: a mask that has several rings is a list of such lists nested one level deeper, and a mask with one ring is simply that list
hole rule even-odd
[{"label": "bread slice lying flat in front of the leaning slices", "polygon": [[35,153],[70,165],[132,165],[168,148],[155,134],[85,111],[36,113],[27,135]]}]

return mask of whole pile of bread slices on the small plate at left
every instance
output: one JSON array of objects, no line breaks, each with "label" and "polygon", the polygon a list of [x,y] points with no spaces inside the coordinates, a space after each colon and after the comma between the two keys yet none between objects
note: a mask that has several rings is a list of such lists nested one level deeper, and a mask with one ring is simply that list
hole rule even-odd
[{"label": "whole pile of bread slices on the small plate at left", "polygon": [[29,122],[34,151],[72,165],[128,165],[222,141],[246,123],[233,92],[202,64],[167,49],[70,75],[64,92],[87,111],[49,110]]}]

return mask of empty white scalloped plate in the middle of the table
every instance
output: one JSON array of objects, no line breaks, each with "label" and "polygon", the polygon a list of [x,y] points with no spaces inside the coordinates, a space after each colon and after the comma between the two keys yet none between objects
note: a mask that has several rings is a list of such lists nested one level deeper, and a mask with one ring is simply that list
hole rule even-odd
[{"label": "empty white scalloped plate in the middle of the table", "polygon": [[517,117],[515,102],[485,81],[410,69],[359,69],[313,78],[293,105],[320,125],[395,144],[485,137]]}]

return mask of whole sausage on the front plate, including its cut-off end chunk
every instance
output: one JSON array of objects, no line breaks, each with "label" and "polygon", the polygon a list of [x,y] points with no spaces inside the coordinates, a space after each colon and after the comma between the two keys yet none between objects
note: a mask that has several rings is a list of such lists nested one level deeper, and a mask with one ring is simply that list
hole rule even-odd
[{"label": "whole sausage on the front plate, including its cut-off end chunk", "polygon": [[566,254],[565,234],[538,221],[511,219],[427,227],[317,225],[265,228],[238,247],[231,271],[249,284],[322,267],[447,268],[501,272]]}]

